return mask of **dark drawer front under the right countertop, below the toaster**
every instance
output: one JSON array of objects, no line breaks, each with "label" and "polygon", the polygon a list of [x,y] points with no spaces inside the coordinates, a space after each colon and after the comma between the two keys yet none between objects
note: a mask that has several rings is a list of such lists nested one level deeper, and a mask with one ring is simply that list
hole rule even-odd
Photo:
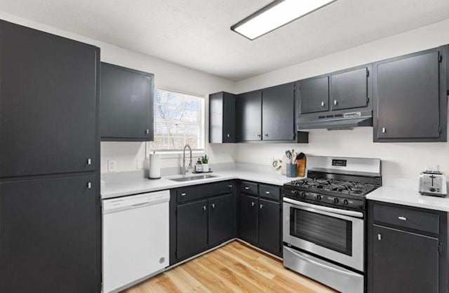
[{"label": "dark drawer front under the right countertop, below the toaster", "polygon": [[438,234],[439,231],[438,214],[409,210],[406,207],[375,204],[374,221],[434,234]]}]

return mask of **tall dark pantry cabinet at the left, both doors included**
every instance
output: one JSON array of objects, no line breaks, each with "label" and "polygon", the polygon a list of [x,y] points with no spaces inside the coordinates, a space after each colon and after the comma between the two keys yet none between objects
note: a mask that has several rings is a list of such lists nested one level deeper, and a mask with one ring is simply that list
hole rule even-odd
[{"label": "tall dark pantry cabinet at the left, both doors included", "polygon": [[0,21],[0,292],[100,292],[100,49]]}]

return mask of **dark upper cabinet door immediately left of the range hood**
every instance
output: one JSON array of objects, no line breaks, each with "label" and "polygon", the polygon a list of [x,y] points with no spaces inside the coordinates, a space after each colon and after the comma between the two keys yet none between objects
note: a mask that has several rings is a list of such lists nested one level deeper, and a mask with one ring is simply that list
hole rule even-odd
[{"label": "dark upper cabinet door immediately left of the range hood", "polygon": [[293,83],[262,90],[262,139],[295,139]]}]

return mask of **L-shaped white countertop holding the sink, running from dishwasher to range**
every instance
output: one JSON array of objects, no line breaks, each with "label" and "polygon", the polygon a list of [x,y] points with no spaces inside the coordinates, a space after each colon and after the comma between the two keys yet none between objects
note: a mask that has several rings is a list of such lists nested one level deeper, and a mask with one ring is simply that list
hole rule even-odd
[{"label": "L-shaped white countertop holding the sink, running from dishwasher to range", "polygon": [[[151,191],[159,191],[163,189],[174,189],[182,186],[205,184],[211,182],[220,182],[229,179],[241,179],[266,184],[282,186],[286,182],[290,182],[300,177],[286,177],[278,173],[265,173],[251,170],[240,170],[238,168],[229,170],[220,170],[208,173],[217,177],[208,179],[199,179],[187,182],[176,182],[168,178],[179,176],[162,177],[161,179],[146,179],[143,177],[123,177],[123,179],[106,180],[102,182],[101,196],[105,198],[116,198],[119,196],[129,196],[132,194],[146,193]],[[195,174],[198,175],[198,174]]]}]

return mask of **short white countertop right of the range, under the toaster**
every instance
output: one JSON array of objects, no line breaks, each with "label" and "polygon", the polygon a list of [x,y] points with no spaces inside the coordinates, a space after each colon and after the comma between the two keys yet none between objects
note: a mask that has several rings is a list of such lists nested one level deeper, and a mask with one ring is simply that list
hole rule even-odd
[{"label": "short white countertop right of the range, under the toaster", "polygon": [[385,203],[397,203],[449,212],[449,198],[422,196],[418,191],[418,179],[391,179],[384,182],[384,185],[375,191],[370,192],[366,198]]}]

